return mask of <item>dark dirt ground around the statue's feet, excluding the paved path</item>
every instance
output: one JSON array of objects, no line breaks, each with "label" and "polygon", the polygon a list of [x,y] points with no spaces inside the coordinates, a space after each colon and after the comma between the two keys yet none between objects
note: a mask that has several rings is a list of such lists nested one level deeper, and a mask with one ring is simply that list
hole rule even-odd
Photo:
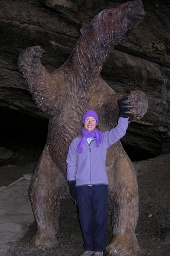
[{"label": "dark dirt ground around the statue's feet, excluding the paved path", "polygon": [[[139,184],[139,221],[136,236],[140,256],[170,256],[170,154],[133,162]],[[111,240],[111,216],[108,216],[107,243]],[[83,252],[77,207],[63,199],[59,218],[60,246],[51,251],[34,251],[31,238],[36,232],[32,224],[14,245],[14,256],[78,256]]]}]

